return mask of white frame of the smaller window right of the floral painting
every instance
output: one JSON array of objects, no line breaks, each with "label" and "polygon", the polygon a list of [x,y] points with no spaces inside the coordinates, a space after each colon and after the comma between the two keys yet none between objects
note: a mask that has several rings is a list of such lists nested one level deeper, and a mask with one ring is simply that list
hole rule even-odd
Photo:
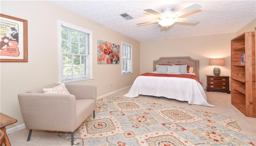
[{"label": "white frame of the smaller window right of the floral painting", "polygon": [[[126,58],[127,55],[124,56],[124,53],[125,53],[125,52],[124,52],[124,51],[125,51],[125,50],[124,50],[124,45],[130,46],[130,52],[127,52],[127,51],[126,51],[126,53],[130,53],[130,58],[128,58],[128,59],[130,59],[130,65],[129,65],[129,66],[130,66],[130,71],[127,71],[127,70],[126,70],[125,72],[124,72],[123,68],[124,68],[124,65],[125,65],[125,64],[124,64],[124,60],[127,59],[127,58]],[[129,43],[126,43],[126,42],[123,42],[123,41],[122,41],[122,75],[130,74],[130,73],[132,73],[132,45],[129,44]]]}]

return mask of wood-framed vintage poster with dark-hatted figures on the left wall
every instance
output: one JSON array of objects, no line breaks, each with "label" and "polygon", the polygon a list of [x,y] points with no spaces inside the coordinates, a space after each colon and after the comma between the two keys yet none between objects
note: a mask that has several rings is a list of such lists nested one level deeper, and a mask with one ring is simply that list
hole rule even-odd
[{"label": "wood-framed vintage poster with dark-hatted figures on the left wall", "polygon": [[27,22],[0,14],[0,62],[28,62]]}]

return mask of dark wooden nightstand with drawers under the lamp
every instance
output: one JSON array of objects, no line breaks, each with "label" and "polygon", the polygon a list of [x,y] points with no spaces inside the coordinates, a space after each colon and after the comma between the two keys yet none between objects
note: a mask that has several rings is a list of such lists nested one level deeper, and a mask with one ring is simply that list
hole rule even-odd
[{"label": "dark wooden nightstand with drawers under the lamp", "polygon": [[220,91],[230,94],[229,76],[206,75],[206,91]]}]

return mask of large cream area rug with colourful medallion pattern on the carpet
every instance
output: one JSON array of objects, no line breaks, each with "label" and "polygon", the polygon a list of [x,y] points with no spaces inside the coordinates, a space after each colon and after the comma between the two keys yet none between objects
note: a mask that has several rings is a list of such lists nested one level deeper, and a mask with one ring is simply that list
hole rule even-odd
[{"label": "large cream area rug with colourful medallion pattern on the carpet", "polygon": [[[53,132],[71,141],[67,132]],[[228,115],[104,97],[74,132],[78,146],[254,146]]]}]

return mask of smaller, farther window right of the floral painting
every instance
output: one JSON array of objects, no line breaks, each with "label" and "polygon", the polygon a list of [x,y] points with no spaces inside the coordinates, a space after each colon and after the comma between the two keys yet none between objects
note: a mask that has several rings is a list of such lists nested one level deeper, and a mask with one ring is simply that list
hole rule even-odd
[{"label": "smaller, farther window right of the floral painting", "polygon": [[122,74],[132,73],[132,45],[122,42]]}]

